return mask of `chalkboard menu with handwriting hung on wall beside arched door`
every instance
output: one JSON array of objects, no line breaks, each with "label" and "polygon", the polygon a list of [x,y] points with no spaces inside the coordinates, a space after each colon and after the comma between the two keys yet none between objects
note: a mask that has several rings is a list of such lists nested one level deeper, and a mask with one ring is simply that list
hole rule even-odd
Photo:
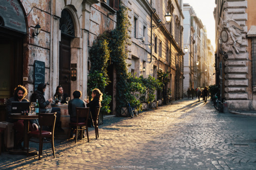
[{"label": "chalkboard menu with handwriting hung on wall beside arched door", "polygon": [[35,60],[35,77],[34,77],[34,89],[37,90],[37,86],[40,83],[45,83],[46,64],[42,61]]}]

